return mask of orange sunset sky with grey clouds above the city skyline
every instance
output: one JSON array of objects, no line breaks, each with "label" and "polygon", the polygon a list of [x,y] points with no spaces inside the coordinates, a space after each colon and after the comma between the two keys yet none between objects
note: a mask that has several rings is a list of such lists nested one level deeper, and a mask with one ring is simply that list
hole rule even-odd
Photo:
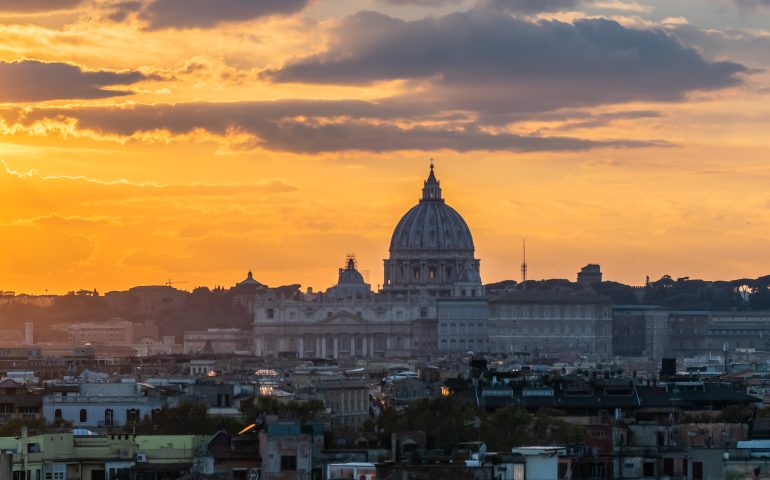
[{"label": "orange sunset sky with grey clouds above the city skyline", "polygon": [[770,273],[770,0],[0,0],[0,291]]}]

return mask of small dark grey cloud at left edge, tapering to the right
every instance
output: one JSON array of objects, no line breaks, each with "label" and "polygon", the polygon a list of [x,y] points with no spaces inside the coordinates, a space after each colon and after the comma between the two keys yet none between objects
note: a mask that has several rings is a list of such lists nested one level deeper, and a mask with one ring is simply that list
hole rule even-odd
[{"label": "small dark grey cloud at left edge, tapering to the right", "polygon": [[131,92],[105,90],[144,80],[140,72],[84,71],[68,63],[0,62],[0,102],[105,98]]}]

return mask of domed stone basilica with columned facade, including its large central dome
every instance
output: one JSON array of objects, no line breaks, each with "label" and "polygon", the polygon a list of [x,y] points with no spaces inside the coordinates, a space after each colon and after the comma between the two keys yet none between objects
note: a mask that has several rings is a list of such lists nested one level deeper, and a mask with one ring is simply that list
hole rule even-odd
[{"label": "domed stone basilica with columned facade, including its large central dome", "polygon": [[[382,289],[372,291],[353,258],[322,293],[255,289],[254,353],[344,359],[483,351],[486,302],[474,254],[471,231],[446,204],[431,164],[419,202],[393,231]],[[442,324],[439,340],[439,316],[463,329]]]}]

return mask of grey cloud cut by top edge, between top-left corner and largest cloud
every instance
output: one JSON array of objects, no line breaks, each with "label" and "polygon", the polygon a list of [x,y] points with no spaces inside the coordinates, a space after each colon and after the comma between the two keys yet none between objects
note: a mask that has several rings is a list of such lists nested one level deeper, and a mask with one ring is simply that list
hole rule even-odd
[{"label": "grey cloud cut by top edge, between top-left corner and largest cloud", "polygon": [[109,9],[108,17],[123,21],[131,15],[150,30],[163,28],[211,28],[225,22],[241,22],[271,15],[289,15],[311,0],[144,0],[124,1]]}]

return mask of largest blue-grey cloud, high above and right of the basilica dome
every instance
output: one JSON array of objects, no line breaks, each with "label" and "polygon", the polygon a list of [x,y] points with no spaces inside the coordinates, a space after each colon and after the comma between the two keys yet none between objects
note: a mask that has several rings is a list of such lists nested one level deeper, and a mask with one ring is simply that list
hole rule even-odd
[{"label": "largest blue-grey cloud, high above and right of the basilica dome", "polygon": [[323,53],[263,72],[275,82],[367,84],[406,79],[445,108],[539,112],[681,100],[737,85],[743,65],[709,61],[659,29],[605,19],[527,22],[487,8],[405,21],[346,18]]}]

